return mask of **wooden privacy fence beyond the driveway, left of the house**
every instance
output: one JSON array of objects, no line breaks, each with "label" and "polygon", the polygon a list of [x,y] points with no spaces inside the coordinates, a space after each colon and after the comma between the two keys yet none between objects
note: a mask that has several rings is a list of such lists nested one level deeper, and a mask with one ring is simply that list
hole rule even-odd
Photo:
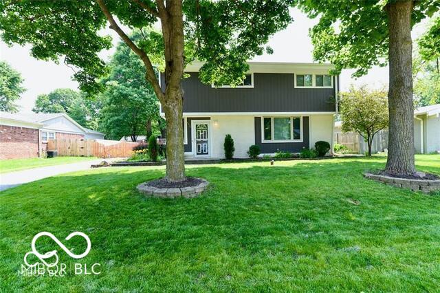
[{"label": "wooden privacy fence beyond the driveway, left of the house", "polygon": [[57,151],[61,156],[124,158],[133,153],[139,142],[120,142],[118,140],[84,140],[61,138],[48,140],[47,151]]}]

